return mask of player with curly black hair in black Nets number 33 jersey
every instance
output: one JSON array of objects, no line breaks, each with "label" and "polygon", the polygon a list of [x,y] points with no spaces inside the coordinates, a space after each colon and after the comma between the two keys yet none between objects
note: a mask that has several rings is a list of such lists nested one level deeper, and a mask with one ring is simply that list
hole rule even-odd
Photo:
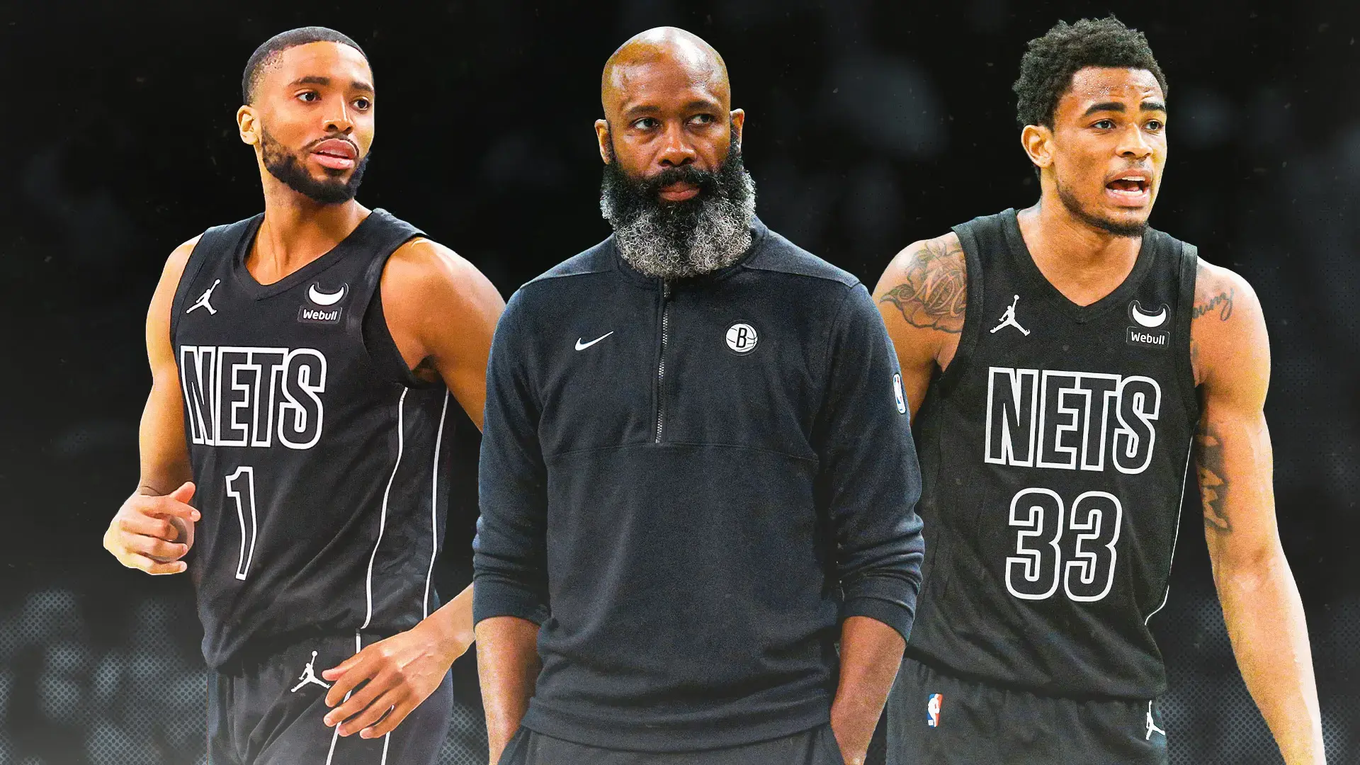
[{"label": "player with curly black hair in black Nets number 33 jersey", "polygon": [[926,528],[889,762],[1166,762],[1146,622],[1191,441],[1242,675],[1285,761],[1322,762],[1261,304],[1148,227],[1166,78],[1111,16],[1031,41],[1016,91],[1039,201],[913,244],[874,293],[919,408]]}]

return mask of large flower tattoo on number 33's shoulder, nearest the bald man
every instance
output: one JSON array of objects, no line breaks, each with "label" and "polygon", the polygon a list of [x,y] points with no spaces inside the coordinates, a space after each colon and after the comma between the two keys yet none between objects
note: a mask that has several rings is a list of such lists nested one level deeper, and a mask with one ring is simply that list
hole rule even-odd
[{"label": "large flower tattoo on number 33's shoulder, nearest the bald man", "polygon": [[959,333],[968,306],[968,279],[963,248],[929,241],[914,253],[907,276],[879,302],[898,306],[913,327]]}]

